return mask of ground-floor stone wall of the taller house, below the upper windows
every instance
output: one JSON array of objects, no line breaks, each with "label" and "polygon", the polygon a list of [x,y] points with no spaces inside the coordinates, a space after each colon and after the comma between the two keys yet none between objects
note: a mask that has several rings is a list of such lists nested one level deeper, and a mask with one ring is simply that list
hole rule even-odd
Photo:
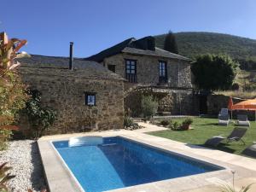
[{"label": "ground-floor stone wall of the taller house, below the upper windows", "polygon": [[153,88],[151,90],[133,90],[125,97],[125,111],[130,108],[133,117],[141,116],[142,97],[148,95],[154,96],[154,99],[159,103],[158,113],[160,114],[179,115],[197,113],[193,90],[159,88]]}]

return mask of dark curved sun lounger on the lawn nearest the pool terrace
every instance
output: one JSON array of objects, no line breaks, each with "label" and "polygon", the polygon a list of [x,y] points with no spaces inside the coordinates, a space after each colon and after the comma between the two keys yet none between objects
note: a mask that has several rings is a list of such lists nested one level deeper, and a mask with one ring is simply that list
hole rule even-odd
[{"label": "dark curved sun lounger on the lawn nearest the pool terrace", "polygon": [[214,136],[212,138],[209,138],[205,143],[205,145],[216,147],[224,139],[227,140],[227,143],[241,141],[241,143],[245,144],[241,137],[243,137],[246,134],[246,132],[247,132],[247,128],[245,127],[235,127],[228,137]]}]

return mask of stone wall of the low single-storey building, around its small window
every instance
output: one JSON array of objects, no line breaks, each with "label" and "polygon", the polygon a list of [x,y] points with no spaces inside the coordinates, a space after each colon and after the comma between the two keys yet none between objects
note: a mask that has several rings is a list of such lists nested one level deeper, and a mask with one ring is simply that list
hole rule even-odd
[{"label": "stone wall of the low single-storey building, around its small window", "polygon": [[[122,80],[86,79],[57,68],[20,67],[19,73],[25,84],[42,93],[43,106],[57,112],[49,134],[123,128]],[[84,105],[84,91],[96,92],[95,107]]]}]

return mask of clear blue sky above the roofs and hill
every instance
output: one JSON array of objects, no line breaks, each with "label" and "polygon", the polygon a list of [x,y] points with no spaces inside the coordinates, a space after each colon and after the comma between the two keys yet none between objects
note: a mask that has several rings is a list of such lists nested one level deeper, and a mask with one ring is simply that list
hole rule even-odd
[{"label": "clear blue sky above the roofs and hill", "polygon": [[[0,32],[26,38],[30,54],[96,54],[125,38],[172,32],[223,32],[256,39],[255,0],[1,1]],[[5,9],[3,9],[5,8]]]}]

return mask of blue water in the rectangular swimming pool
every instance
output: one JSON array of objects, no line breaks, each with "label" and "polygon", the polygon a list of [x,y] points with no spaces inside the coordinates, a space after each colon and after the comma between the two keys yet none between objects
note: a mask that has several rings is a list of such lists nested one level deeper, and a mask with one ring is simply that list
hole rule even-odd
[{"label": "blue water in the rectangular swimming pool", "polygon": [[53,142],[86,192],[101,192],[222,169],[124,137]]}]

